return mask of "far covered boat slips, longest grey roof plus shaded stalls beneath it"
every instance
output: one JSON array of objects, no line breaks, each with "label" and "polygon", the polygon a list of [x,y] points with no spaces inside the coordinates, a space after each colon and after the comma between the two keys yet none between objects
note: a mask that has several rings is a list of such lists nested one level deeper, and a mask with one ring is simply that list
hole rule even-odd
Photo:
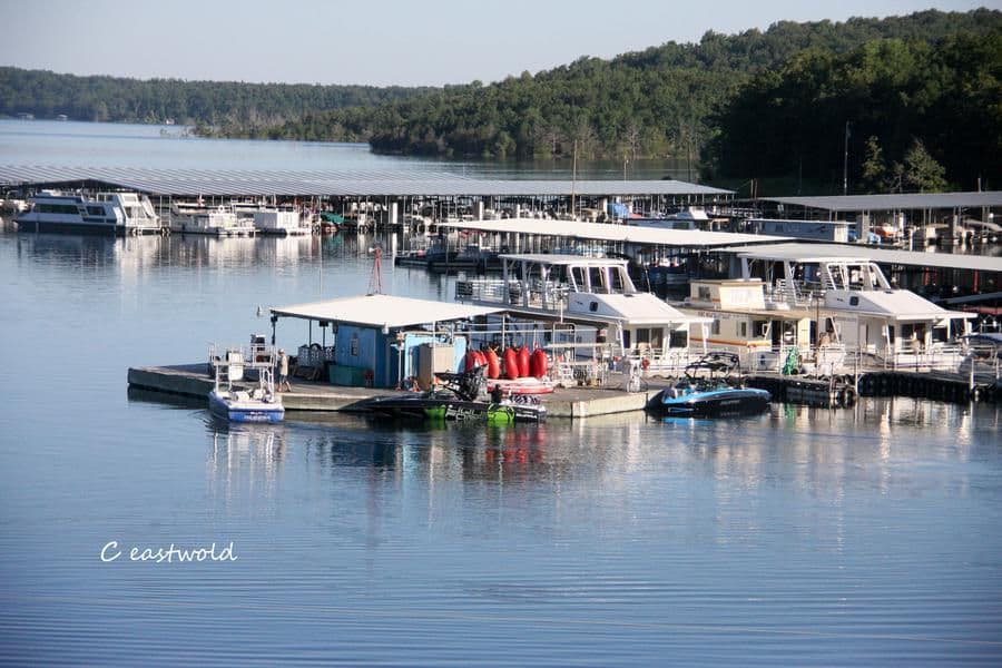
[{"label": "far covered boat slips, longest grey roof plus shaded stalls beneath it", "polygon": [[160,200],[203,196],[216,204],[246,197],[281,198],[340,214],[345,223],[395,226],[426,213],[433,219],[542,214],[580,218],[607,200],[644,210],[729,203],[731,190],[686,181],[494,179],[423,170],[157,169],[0,165],[0,186],[31,189],[111,186]]}]

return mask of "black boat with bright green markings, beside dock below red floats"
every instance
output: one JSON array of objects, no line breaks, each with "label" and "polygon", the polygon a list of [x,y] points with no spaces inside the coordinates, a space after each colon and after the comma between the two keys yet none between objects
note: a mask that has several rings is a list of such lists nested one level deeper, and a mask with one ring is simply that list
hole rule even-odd
[{"label": "black boat with bright green markings, beside dock below red floats", "polygon": [[536,396],[515,396],[508,401],[481,401],[484,390],[483,367],[466,373],[436,374],[441,390],[383,396],[367,402],[370,412],[412,420],[480,420],[488,424],[542,422],[547,409]]}]

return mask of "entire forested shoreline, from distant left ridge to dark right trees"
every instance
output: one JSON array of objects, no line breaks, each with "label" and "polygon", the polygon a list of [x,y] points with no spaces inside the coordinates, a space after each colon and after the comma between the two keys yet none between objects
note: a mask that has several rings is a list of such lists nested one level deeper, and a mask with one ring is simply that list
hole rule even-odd
[{"label": "entire forested shoreline, from distant left ridge to dark right trees", "polygon": [[[686,158],[735,187],[999,187],[1002,12],[935,10],[707,32],[503,81],[369,88],[139,81],[0,68],[0,114],[369,141],[449,157]],[[797,187],[799,190],[799,187]]]}]

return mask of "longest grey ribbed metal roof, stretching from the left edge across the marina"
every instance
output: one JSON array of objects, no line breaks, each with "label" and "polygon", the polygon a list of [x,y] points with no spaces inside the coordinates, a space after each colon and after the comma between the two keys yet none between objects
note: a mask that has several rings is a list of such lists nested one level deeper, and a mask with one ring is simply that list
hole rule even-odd
[{"label": "longest grey ribbed metal roof, stretching from the left edge across the marina", "polygon": [[151,169],[132,167],[0,166],[0,185],[100,181],[150,195],[301,196],[719,196],[731,190],[678,180],[498,180],[454,174],[393,171],[288,171]]}]

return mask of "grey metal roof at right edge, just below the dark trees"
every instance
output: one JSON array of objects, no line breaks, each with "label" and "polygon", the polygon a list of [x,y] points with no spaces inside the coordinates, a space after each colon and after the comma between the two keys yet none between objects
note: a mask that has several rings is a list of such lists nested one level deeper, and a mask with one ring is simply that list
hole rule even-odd
[{"label": "grey metal roof at right edge, just below the dark trees", "polygon": [[765,197],[768,202],[828,212],[898,212],[1002,206],[1002,190],[986,193],[914,193],[828,197]]}]

